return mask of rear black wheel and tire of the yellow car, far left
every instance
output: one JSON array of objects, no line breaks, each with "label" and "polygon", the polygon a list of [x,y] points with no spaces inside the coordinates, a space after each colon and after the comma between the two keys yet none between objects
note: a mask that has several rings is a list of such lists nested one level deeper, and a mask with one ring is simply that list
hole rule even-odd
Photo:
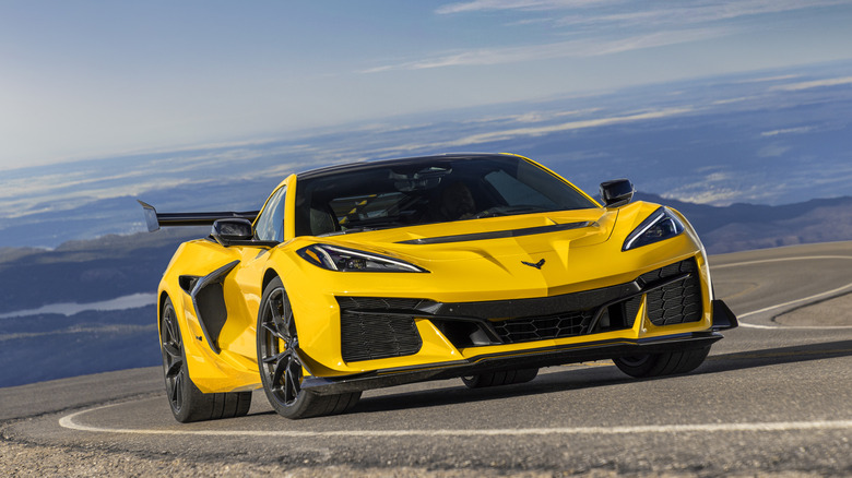
[{"label": "rear black wheel and tire of the yellow car, far left", "polygon": [[175,307],[168,298],[159,319],[159,337],[166,396],[177,421],[217,420],[248,414],[251,392],[203,393],[192,383]]}]

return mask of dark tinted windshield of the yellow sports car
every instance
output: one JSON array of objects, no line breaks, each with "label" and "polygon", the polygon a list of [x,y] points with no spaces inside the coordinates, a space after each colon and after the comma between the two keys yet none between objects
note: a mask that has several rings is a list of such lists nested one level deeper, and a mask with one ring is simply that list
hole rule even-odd
[{"label": "dark tinted windshield of the yellow sports car", "polygon": [[296,235],[596,207],[575,188],[518,157],[427,157],[299,179]]}]

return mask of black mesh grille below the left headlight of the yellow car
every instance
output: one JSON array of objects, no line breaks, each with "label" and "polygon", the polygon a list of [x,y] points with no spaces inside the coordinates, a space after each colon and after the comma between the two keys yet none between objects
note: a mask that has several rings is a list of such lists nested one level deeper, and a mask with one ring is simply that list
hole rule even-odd
[{"label": "black mesh grille below the left headlight of the yellow car", "polygon": [[341,354],[347,362],[401,357],[419,351],[421,334],[410,314],[418,299],[339,297]]}]

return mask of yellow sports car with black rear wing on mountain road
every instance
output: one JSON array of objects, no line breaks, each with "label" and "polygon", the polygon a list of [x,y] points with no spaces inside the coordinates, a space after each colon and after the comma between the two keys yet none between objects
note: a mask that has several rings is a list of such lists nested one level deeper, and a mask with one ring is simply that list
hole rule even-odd
[{"label": "yellow sports car with black rear wing on mountain road", "polygon": [[259,212],[142,203],[150,230],[212,224],[158,288],[175,418],[246,415],[259,387],[303,418],[365,390],[570,362],[691,371],[737,325],[701,242],[677,211],[631,203],[628,180],[601,194],[521,156],[447,154],[292,175]]}]

